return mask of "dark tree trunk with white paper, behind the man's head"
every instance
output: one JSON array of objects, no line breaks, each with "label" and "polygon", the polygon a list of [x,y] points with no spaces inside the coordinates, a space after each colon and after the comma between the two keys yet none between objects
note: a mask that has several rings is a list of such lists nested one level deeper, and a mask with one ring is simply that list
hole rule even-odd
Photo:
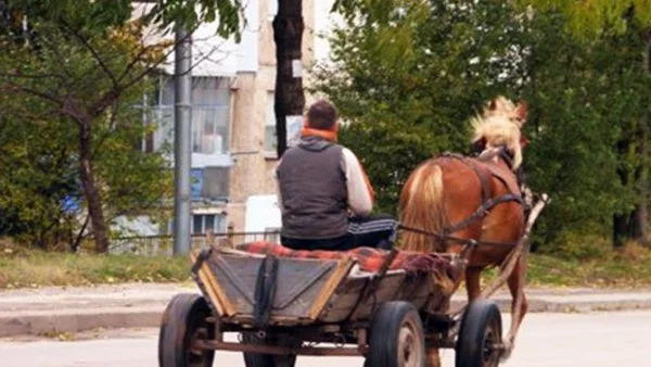
[{"label": "dark tree trunk with white paper, behind the man's head", "polygon": [[286,116],[302,115],[305,107],[301,45],[303,40],[303,1],[278,1],[278,14],[273,18],[276,41],[276,135],[277,153],[281,157],[288,148]]}]

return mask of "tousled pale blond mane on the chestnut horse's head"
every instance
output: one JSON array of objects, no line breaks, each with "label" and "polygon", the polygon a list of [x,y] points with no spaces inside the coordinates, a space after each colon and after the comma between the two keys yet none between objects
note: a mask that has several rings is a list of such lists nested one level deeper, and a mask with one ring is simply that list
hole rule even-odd
[{"label": "tousled pale blond mane on the chestnut horse's head", "polygon": [[526,140],[520,129],[524,125],[527,106],[524,102],[513,103],[499,96],[486,104],[481,116],[472,118],[474,136],[472,143],[481,151],[507,149],[513,156],[511,169],[522,164],[522,148]]}]

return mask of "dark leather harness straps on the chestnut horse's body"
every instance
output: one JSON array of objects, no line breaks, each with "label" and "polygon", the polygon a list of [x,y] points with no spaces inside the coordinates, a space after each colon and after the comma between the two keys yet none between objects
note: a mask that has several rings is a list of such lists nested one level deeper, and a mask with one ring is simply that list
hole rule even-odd
[{"label": "dark leather harness straps on the chestnut horse's body", "polygon": [[[422,230],[419,228],[407,227],[404,225],[399,225],[398,227],[403,230],[408,230],[408,231],[417,232],[420,235],[435,237],[443,243],[445,243],[446,241],[451,241],[451,242],[459,242],[459,243],[467,244],[467,245],[476,245],[478,243],[493,244],[493,245],[514,245],[515,243],[512,243],[512,242],[478,241],[478,240],[474,240],[474,239],[464,239],[464,238],[450,236],[450,233],[454,233],[458,230],[467,228],[470,225],[472,225],[475,220],[485,217],[486,215],[488,215],[488,213],[490,212],[490,210],[493,207],[495,207],[501,203],[514,201],[514,202],[520,203],[520,205],[522,205],[524,207],[524,201],[522,199],[522,194],[519,192],[520,191],[519,185],[516,184],[515,186],[513,186],[512,182],[509,182],[509,180],[505,177],[503,172],[500,172],[503,169],[498,169],[497,166],[493,167],[492,165],[480,165],[477,160],[469,159],[461,154],[446,152],[442,156],[459,160],[475,173],[475,175],[480,179],[480,182],[482,184],[482,204],[469,217],[467,217],[465,219],[463,219],[452,226],[445,228],[442,233],[433,233],[433,232],[429,232],[429,231],[425,231],[425,230]],[[512,166],[512,159],[509,156],[506,149],[502,149],[500,151],[499,157],[505,160],[505,162],[509,166]],[[493,178],[493,177],[500,180],[505,185],[505,187],[509,190],[509,193],[505,193],[505,194],[496,197],[496,198],[490,198],[489,185],[490,185],[490,178]],[[516,179],[520,184],[520,177],[518,175],[516,175]]]}]

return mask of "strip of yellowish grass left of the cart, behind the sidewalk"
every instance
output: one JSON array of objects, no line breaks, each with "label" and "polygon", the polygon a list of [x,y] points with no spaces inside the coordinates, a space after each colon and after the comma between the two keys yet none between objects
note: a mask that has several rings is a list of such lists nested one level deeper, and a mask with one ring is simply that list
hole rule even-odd
[{"label": "strip of yellowish grass left of the cart, behind the sidewalk", "polygon": [[72,254],[0,244],[0,289],[187,281],[190,265],[184,256]]}]

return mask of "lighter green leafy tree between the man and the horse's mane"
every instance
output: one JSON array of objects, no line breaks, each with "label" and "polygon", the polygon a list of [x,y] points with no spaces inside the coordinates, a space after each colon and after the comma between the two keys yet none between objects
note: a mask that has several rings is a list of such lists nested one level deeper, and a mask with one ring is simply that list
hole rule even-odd
[{"label": "lighter green leafy tree between the man and the horse's mane", "polygon": [[467,151],[468,118],[496,93],[518,90],[521,21],[497,1],[356,4],[316,89],[349,121],[341,141],[366,165],[380,210],[394,213],[417,164]]}]

